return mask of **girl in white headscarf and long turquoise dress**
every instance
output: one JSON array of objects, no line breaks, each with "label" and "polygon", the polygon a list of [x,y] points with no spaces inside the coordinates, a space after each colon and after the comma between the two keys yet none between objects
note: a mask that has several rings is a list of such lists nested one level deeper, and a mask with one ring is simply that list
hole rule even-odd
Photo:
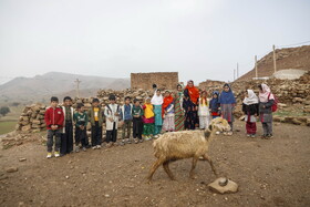
[{"label": "girl in white headscarf and long turquoise dress", "polygon": [[[156,85],[154,85],[155,87]],[[163,117],[162,117],[162,105],[163,105],[164,99],[161,93],[161,90],[155,87],[154,95],[151,100],[151,103],[154,106],[154,113],[155,113],[155,125],[154,125],[154,137],[157,138],[158,134],[162,132],[162,125],[163,125]]]}]

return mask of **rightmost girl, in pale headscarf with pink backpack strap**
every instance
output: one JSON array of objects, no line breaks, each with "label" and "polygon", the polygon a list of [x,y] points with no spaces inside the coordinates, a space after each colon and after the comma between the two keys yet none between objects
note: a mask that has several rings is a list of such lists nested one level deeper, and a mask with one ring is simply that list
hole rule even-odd
[{"label": "rightmost girl, in pale headscarf with pink backpack strap", "polygon": [[268,85],[265,83],[258,85],[259,87],[259,120],[262,124],[264,135],[261,138],[272,137],[272,104],[275,96]]}]

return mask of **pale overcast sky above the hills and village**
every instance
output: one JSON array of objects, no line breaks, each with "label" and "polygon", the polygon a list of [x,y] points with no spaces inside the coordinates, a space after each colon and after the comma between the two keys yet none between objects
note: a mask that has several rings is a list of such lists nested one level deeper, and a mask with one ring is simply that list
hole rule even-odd
[{"label": "pale overcast sky above the hills and village", "polygon": [[[0,83],[50,71],[232,80],[310,41],[309,0],[0,0]],[[308,43],[309,44],[309,43]]]}]

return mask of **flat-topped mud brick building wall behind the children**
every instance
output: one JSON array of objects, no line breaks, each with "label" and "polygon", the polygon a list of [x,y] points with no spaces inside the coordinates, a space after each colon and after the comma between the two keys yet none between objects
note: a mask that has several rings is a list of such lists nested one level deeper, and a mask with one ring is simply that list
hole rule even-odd
[{"label": "flat-topped mud brick building wall behind the children", "polygon": [[152,90],[153,84],[157,84],[163,90],[175,90],[178,84],[177,72],[163,73],[132,73],[131,85],[132,90]]}]

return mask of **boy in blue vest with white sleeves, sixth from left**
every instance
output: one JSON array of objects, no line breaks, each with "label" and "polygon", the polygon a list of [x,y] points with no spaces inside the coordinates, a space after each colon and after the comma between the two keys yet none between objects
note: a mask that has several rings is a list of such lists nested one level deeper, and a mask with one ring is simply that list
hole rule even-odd
[{"label": "boy in blue vest with white sleeves, sixth from left", "polygon": [[[125,97],[125,104],[122,105],[121,107],[121,118],[123,122],[123,134],[122,134],[122,145],[128,143],[131,144],[131,130],[132,130],[132,123],[133,123],[133,115],[132,115],[132,111],[133,111],[133,104],[131,104],[131,97],[127,96]],[[127,134],[126,134],[127,131]],[[126,139],[125,139],[126,138]]]}]

